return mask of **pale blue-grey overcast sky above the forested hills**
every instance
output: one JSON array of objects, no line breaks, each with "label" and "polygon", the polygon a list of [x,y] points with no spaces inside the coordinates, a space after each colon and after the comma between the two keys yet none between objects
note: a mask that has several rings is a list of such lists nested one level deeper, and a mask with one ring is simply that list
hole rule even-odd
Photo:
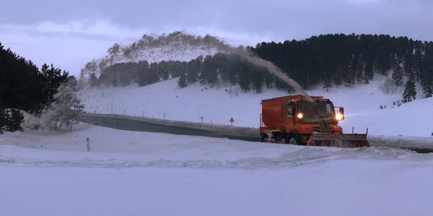
[{"label": "pale blue-grey overcast sky above the forested hills", "polygon": [[0,0],[0,43],[77,76],[114,43],[185,30],[227,43],[327,33],[433,40],[433,0]]}]

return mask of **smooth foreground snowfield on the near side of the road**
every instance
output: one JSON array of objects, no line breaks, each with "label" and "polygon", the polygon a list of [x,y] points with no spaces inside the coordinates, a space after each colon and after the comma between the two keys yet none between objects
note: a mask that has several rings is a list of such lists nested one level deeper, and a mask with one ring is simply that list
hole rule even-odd
[{"label": "smooth foreground snowfield on the near side of the road", "polygon": [[[91,151],[87,152],[86,138]],[[2,215],[430,215],[433,154],[80,125],[0,136]]]}]

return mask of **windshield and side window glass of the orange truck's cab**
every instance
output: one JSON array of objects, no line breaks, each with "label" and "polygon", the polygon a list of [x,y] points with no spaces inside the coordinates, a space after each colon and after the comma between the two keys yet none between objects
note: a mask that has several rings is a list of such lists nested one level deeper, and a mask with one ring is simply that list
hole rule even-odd
[{"label": "windshield and side window glass of the orange truck's cab", "polygon": [[[334,106],[328,101],[317,101],[322,117],[327,119],[329,123],[335,123]],[[318,123],[314,106],[308,101],[298,102],[298,113],[302,113],[303,117],[299,119],[300,123]]]}]

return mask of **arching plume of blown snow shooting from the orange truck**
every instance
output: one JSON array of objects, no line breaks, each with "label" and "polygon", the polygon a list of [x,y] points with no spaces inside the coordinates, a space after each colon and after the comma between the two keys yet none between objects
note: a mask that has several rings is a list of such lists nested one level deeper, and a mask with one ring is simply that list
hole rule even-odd
[{"label": "arching plume of blown snow shooting from the orange truck", "polygon": [[199,55],[215,54],[216,52],[238,54],[255,66],[266,68],[279,79],[301,92],[309,101],[313,101],[296,81],[281,72],[274,63],[248,52],[244,47],[232,47],[215,36],[194,36],[183,31],[175,31],[159,36],[143,35],[140,40],[129,46],[114,44],[108,50],[106,57],[87,63],[81,70],[80,88],[83,85],[83,81],[90,74],[94,73],[98,75],[104,68],[115,63],[138,62],[140,60],[147,60],[148,62],[162,60],[189,61]]}]

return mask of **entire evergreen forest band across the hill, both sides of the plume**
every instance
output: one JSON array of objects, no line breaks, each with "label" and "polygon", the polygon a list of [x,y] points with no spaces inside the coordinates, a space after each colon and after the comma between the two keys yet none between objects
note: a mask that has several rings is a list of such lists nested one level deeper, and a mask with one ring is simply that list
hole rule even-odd
[{"label": "entire evergreen forest band across the hill, both sides of the plume", "polygon": [[[139,45],[131,45],[130,49],[134,46]],[[413,75],[412,80],[419,82],[429,97],[433,94],[432,47],[433,42],[414,41],[407,37],[326,34],[301,41],[262,42],[255,47],[247,47],[247,51],[273,62],[305,89],[323,87],[329,90],[340,85],[368,84],[375,74],[387,76],[392,71],[393,82],[397,86],[402,86],[403,80]],[[105,65],[107,62],[102,63]],[[216,53],[204,58],[198,56],[189,62],[161,61],[138,67],[134,64],[137,63],[122,63],[123,66],[116,66],[116,70],[112,70],[112,66],[106,67],[98,80],[107,80],[106,76],[114,76],[111,74],[127,73],[123,77],[128,79],[124,81],[114,76],[114,82],[110,78],[105,83],[118,85],[136,81],[143,86],[170,79],[171,76],[179,77],[178,85],[181,87],[197,81],[213,86],[222,81],[240,84],[246,91],[252,88],[260,92],[266,84],[267,88],[277,87],[294,93],[293,87],[266,69],[257,69],[233,53]],[[94,83],[96,79],[91,80]]]}]

